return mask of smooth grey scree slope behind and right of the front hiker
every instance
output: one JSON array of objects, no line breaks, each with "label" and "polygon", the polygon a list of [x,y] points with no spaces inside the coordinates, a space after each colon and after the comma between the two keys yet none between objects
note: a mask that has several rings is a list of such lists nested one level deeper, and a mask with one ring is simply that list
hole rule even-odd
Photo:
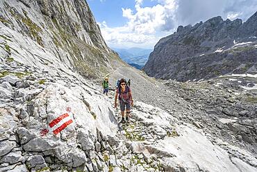
[{"label": "smooth grey scree slope behind and right of the front hiker", "polygon": [[131,91],[133,99],[151,104],[167,111],[191,114],[187,111],[188,102],[176,95],[162,83],[154,78],[148,77],[144,72],[135,68],[118,68],[109,75],[109,82],[115,88],[117,79],[131,79]]}]

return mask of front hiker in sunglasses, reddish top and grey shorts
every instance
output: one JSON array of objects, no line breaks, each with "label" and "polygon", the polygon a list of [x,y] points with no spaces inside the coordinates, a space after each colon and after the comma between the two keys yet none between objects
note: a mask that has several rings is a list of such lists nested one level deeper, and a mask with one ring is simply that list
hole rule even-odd
[{"label": "front hiker in sunglasses, reddish top and grey shorts", "polygon": [[[114,107],[117,108],[117,97],[119,96],[119,107],[122,111],[122,121],[121,123],[129,122],[129,114],[131,113],[131,106],[133,106],[133,99],[131,94],[131,88],[126,85],[125,79],[120,79],[119,87],[117,88],[115,94],[115,103]],[[126,107],[126,121],[124,119],[125,116],[125,107]]]}]

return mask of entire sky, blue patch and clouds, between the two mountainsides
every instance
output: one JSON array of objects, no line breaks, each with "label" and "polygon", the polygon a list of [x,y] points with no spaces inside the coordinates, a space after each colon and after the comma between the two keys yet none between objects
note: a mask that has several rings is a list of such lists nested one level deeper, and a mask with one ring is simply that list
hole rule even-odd
[{"label": "entire sky, blue patch and clouds, between the two mountainsides", "polygon": [[154,45],[177,27],[222,16],[245,22],[257,11],[257,0],[88,0],[109,47]]}]

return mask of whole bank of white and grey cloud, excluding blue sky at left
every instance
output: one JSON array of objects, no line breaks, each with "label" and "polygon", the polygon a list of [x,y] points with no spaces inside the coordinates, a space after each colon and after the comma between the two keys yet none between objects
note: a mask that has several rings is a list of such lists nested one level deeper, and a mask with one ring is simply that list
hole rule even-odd
[{"label": "whole bank of white and grey cloud, excluding blue sky at left", "polygon": [[[105,1],[105,0],[101,0]],[[223,19],[242,18],[254,14],[256,0],[151,0],[158,4],[142,7],[143,0],[135,0],[135,10],[122,8],[128,19],[124,26],[111,28],[100,25],[103,38],[110,46],[154,47],[158,40],[172,34],[179,25],[195,24],[221,15]]]}]

